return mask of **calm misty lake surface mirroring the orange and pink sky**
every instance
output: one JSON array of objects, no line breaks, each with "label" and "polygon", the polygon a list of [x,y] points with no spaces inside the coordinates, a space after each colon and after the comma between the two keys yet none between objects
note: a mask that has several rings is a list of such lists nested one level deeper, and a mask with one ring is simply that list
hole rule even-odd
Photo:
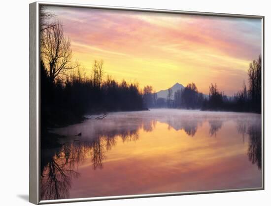
[{"label": "calm misty lake surface mirroring the orange and pink sky", "polygon": [[258,114],[117,112],[53,132],[67,137],[41,151],[42,200],[262,185]]}]

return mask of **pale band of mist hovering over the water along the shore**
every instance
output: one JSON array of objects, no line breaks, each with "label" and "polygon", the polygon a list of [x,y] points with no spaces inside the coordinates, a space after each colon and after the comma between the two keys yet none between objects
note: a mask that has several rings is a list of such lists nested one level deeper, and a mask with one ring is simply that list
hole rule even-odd
[{"label": "pale band of mist hovering over the water along the shore", "polygon": [[[96,116],[93,116],[95,118]],[[101,135],[129,133],[129,131],[152,130],[156,122],[168,124],[175,130],[195,131],[204,122],[208,122],[211,130],[221,127],[224,122],[233,121],[237,127],[248,128],[252,124],[261,126],[261,115],[254,113],[211,112],[179,109],[151,109],[138,112],[112,112],[102,120],[89,119],[80,124],[53,129],[52,132],[69,138],[91,140]],[[192,132],[192,134],[195,134]],[[243,132],[246,132],[243,131]],[[75,135],[81,133],[80,137]],[[213,132],[211,132],[213,133]],[[69,138],[66,138],[69,139]]]}]

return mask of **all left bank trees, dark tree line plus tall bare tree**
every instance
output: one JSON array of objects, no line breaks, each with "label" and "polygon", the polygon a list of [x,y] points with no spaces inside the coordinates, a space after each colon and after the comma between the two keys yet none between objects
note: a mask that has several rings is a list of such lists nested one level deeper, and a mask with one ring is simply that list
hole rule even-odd
[{"label": "all left bank trees, dark tree line plus tall bare tree", "polygon": [[40,79],[41,124],[48,126],[75,123],[85,114],[143,109],[143,98],[137,83],[104,80],[103,61],[94,61],[91,77],[82,74],[78,62],[72,60],[70,40],[64,35],[59,20],[47,21],[55,15],[40,9]]}]

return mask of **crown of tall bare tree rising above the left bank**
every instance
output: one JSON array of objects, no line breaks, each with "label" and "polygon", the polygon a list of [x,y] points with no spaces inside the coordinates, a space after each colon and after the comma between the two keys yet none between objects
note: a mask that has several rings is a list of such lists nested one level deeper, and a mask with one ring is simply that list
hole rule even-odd
[{"label": "crown of tall bare tree rising above the left bank", "polygon": [[44,31],[41,56],[49,66],[51,82],[59,75],[65,75],[67,70],[79,66],[78,63],[72,63],[70,40],[64,36],[63,25],[59,21]]}]

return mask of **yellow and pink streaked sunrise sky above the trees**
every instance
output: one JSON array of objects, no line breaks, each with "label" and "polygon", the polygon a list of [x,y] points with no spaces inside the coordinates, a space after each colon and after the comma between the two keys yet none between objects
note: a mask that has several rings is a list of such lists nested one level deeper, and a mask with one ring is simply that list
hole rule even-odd
[{"label": "yellow and pink streaked sunrise sky above the trees", "polygon": [[73,59],[91,75],[95,59],[119,82],[210,83],[232,95],[261,54],[261,20],[48,6],[64,25]]}]

